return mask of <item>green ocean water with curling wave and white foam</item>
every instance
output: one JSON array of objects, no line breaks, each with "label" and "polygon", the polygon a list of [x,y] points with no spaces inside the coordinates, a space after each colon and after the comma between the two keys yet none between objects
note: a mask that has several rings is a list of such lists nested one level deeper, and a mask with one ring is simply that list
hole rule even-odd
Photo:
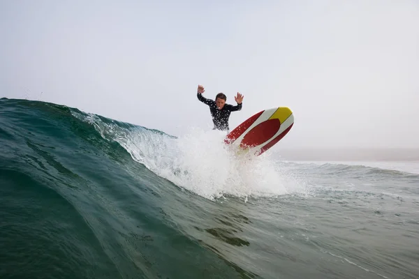
[{"label": "green ocean water with curling wave and white foam", "polygon": [[419,278],[418,162],[222,138],[0,99],[0,278]]}]

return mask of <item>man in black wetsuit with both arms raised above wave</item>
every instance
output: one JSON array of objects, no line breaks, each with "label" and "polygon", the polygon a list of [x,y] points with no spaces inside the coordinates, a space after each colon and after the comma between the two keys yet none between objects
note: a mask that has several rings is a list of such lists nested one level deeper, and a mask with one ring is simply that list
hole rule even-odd
[{"label": "man in black wetsuit with both arms raised above wave", "polygon": [[202,94],[204,91],[204,87],[202,85],[198,85],[198,93],[196,96],[198,97],[198,100],[210,107],[212,122],[214,123],[214,128],[212,130],[230,130],[228,127],[230,113],[242,110],[244,96],[237,92],[237,96],[235,96],[237,105],[228,105],[226,104],[227,97],[223,93],[216,94],[214,101],[203,97]]}]

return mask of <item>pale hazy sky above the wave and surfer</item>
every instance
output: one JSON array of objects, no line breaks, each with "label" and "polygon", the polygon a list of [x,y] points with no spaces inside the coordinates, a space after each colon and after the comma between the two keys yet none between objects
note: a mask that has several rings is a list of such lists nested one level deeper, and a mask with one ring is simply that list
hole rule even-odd
[{"label": "pale hazy sky above the wave and surfer", "polygon": [[0,97],[163,130],[290,107],[282,148],[419,147],[419,2],[0,0]]}]

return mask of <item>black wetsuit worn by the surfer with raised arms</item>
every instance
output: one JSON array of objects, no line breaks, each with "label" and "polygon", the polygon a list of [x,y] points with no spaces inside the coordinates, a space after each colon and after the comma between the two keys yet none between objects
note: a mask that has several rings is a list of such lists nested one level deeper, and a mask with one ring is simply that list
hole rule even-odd
[{"label": "black wetsuit worn by the surfer with raised arms", "polygon": [[221,110],[216,107],[214,100],[205,98],[202,94],[197,93],[198,100],[210,107],[210,112],[212,116],[212,122],[214,122],[214,128],[218,130],[229,130],[228,128],[228,118],[230,117],[231,112],[237,112],[242,110],[242,104],[237,105],[224,105]]}]

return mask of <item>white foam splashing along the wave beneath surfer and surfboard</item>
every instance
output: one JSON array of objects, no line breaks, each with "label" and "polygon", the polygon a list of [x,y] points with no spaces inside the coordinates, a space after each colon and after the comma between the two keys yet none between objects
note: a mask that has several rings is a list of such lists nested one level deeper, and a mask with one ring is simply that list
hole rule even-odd
[{"label": "white foam splashing along the wave beneath surfer and surfboard", "polygon": [[214,199],[307,194],[307,186],[281,172],[281,165],[264,153],[236,156],[223,144],[226,133],[191,129],[178,139],[140,130],[119,139],[133,159],[177,186]]}]

